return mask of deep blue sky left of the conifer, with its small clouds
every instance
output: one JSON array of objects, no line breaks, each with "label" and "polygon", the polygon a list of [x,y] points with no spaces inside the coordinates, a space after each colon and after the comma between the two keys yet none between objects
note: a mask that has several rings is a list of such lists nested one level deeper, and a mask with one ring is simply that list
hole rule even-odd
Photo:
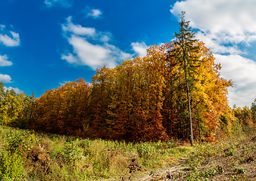
[{"label": "deep blue sky left of the conifer, with its small clouds", "polygon": [[0,62],[5,61],[0,81],[25,94],[34,91],[36,97],[66,81],[91,81],[95,69],[136,56],[133,48],[144,52],[146,44],[170,41],[178,24],[170,5],[146,0],[0,1]]}]

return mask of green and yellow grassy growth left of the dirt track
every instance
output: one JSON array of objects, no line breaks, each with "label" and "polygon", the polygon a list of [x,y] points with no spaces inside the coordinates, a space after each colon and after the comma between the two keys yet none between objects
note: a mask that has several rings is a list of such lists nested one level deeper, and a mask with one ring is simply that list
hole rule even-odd
[{"label": "green and yellow grassy growth left of the dirt track", "polygon": [[191,151],[175,143],[124,143],[0,128],[1,180],[120,180],[167,167]]}]

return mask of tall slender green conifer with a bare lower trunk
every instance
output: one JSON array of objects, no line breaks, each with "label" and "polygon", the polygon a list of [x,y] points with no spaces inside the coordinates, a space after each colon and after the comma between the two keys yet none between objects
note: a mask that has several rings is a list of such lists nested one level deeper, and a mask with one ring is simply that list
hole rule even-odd
[{"label": "tall slender green conifer with a bare lower trunk", "polygon": [[184,72],[186,82],[186,97],[189,112],[189,140],[193,146],[193,127],[192,127],[192,110],[191,110],[191,97],[190,91],[195,81],[193,76],[195,67],[200,66],[201,60],[198,58],[199,47],[195,44],[195,32],[192,32],[189,26],[189,21],[184,19],[185,12],[182,11],[180,15],[180,32],[175,33],[174,46],[171,52],[172,56],[180,63],[180,71]]}]

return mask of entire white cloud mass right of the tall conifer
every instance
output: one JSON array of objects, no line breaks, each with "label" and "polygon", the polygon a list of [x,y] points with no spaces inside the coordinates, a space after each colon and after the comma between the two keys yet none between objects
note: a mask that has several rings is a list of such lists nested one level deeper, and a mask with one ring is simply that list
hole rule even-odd
[{"label": "entire white cloud mass right of the tall conifer", "polygon": [[223,78],[235,82],[236,87],[229,88],[230,106],[250,106],[256,97],[256,63],[245,58],[246,48],[256,40],[255,6],[255,1],[186,0],[170,9],[176,17],[186,11],[186,20],[198,29],[197,38],[221,63]]}]

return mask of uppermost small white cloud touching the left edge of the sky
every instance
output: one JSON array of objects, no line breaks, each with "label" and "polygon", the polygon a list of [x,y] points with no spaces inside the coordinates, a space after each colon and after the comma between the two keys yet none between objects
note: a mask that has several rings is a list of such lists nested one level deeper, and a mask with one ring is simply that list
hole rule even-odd
[{"label": "uppermost small white cloud touching the left edge of the sky", "polygon": [[5,25],[0,25],[0,44],[7,47],[16,47],[20,45],[20,35],[17,32],[9,31]]}]

